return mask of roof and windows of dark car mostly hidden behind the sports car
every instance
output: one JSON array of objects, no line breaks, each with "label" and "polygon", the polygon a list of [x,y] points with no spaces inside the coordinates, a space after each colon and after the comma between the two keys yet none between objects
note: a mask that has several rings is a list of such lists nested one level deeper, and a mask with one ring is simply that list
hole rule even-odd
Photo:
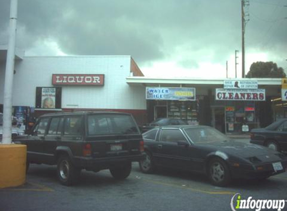
[{"label": "roof and windows of dark car mostly hidden behind the sports car", "polygon": [[165,126],[165,125],[184,125],[188,124],[185,120],[179,118],[157,118],[151,123],[144,124],[142,126],[142,132],[146,132],[149,129],[152,129],[156,126]]}]

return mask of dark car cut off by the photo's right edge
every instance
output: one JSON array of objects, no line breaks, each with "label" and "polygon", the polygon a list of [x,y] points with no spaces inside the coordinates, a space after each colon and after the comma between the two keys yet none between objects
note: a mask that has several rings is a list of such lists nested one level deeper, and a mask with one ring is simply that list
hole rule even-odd
[{"label": "dark car cut off by the photo's right edge", "polygon": [[267,146],[277,151],[287,151],[287,118],[250,132],[250,143]]}]

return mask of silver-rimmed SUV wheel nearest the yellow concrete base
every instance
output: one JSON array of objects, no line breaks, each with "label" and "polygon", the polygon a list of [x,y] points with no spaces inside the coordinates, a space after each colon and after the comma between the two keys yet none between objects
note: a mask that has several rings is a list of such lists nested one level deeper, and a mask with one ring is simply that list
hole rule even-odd
[{"label": "silver-rimmed SUV wheel nearest the yellow concrete base", "polygon": [[81,169],[74,166],[68,155],[62,155],[58,159],[57,174],[61,184],[72,185],[79,179]]}]

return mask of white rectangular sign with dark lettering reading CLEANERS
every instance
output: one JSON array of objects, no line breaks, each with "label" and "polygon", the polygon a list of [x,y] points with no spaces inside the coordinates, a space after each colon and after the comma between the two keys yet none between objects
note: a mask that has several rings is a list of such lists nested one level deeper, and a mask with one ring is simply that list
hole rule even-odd
[{"label": "white rectangular sign with dark lettering reading CLEANERS", "polygon": [[216,100],[265,100],[265,89],[224,89],[216,88]]}]

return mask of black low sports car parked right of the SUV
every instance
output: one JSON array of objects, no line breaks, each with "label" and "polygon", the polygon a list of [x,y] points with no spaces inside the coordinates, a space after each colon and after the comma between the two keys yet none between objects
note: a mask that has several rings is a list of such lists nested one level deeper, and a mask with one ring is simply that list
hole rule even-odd
[{"label": "black low sports car parked right of the SUV", "polygon": [[209,126],[162,126],[143,134],[144,173],[157,166],[206,174],[211,183],[227,185],[233,178],[260,178],[282,173],[287,157],[270,148],[231,140]]}]

